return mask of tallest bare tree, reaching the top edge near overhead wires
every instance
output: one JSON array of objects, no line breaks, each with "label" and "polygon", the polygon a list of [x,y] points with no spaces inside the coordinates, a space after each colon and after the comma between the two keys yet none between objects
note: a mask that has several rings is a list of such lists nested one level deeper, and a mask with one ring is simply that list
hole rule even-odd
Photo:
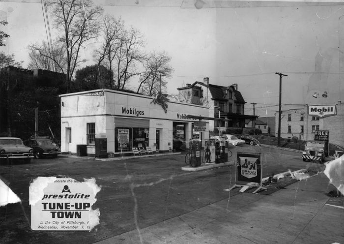
[{"label": "tallest bare tree, reaching the top edge near overhead wires", "polygon": [[[54,27],[62,33],[57,40],[64,46],[66,82],[70,87],[75,68],[80,63],[80,48],[85,42],[98,36],[98,18],[103,8],[93,6],[91,0],[49,0],[48,7],[54,16]],[[38,47],[36,50],[58,63],[49,53],[43,53]]]}]

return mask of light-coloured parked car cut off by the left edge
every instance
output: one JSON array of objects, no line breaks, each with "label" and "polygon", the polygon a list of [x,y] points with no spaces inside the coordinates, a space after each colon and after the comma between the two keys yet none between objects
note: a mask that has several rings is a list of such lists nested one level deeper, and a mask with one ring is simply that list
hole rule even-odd
[{"label": "light-coloured parked car cut off by the left edge", "polygon": [[0,137],[0,158],[18,158],[30,162],[33,149],[23,144],[17,137]]}]

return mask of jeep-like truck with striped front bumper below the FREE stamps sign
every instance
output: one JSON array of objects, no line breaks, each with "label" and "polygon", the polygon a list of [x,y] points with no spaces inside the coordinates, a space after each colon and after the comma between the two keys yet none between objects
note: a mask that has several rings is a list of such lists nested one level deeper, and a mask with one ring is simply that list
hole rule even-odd
[{"label": "jeep-like truck with striped front bumper below the FREE stamps sign", "polygon": [[327,147],[324,141],[308,141],[304,152],[302,152],[302,160],[323,163],[326,153]]}]

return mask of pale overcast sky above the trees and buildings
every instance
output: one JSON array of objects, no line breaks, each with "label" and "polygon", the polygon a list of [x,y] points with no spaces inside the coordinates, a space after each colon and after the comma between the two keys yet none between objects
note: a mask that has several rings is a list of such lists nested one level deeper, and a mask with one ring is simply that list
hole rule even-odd
[{"label": "pale overcast sky above the trees and buildings", "polygon": [[[246,114],[253,114],[255,102],[256,114],[266,116],[278,110],[273,106],[279,97],[275,72],[281,72],[287,75],[282,81],[283,104],[344,101],[343,3],[204,0],[197,9],[195,2],[94,1],[105,13],[121,16],[127,26],[139,29],[147,51],[164,50],[172,57],[170,94],[203,77],[221,86],[237,83],[247,102]],[[0,18],[9,23],[1,30],[11,36],[0,51],[13,53],[26,67],[27,46],[46,40],[40,1],[1,1]],[[82,50],[88,64],[95,45]],[[327,98],[321,96],[324,91]],[[320,94],[317,99],[315,92]]]}]

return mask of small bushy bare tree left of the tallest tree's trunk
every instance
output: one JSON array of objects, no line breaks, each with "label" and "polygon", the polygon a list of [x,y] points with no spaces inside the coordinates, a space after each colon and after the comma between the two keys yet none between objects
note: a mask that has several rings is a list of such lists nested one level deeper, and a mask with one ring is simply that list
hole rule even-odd
[{"label": "small bushy bare tree left of the tallest tree's trunk", "polygon": [[[38,47],[38,49],[37,49]],[[28,65],[29,69],[44,69],[54,72],[65,73],[67,60],[65,57],[64,47],[56,43],[51,48],[47,42],[42,41],[42,45],[33,44],[29,45],[29,58],[30,62]],[[50,57],[41,55],[49,54]]]}]

